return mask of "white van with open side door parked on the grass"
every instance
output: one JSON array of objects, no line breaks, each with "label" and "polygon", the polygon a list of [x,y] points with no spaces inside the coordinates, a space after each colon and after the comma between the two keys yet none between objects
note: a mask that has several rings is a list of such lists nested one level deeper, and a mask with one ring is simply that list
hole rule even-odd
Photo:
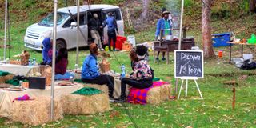
[{"label": "white van with open side door parked on the grass", "polygon": [[[93,39],[90,36],[87,22],[90,18],[93,18],[93,14],[97,13],[98,18],[102,23],[106,19],[108,12],[112,12],[117,20],[118,32],[124,35],[124,22],[122,19],[122,12],[118,6],[111,5],[84,5],[80,6],[80,21],[79,26],[82,33],[79,33],[79,46],[88,46]],[[57,49],[60,47],[66,47],[72,49],[76,47],[76,34],[77,27],[71,26],[71,22],[77,20],[77,6],[69,6],[58,9],[57,20]],[[24,37],[25,46],[34,50],[42,50],[42,40],[44,35],[53,30],[54,26],[54,13],[50,13],[43,18],[42,21],[29,26],[26,29],[26,35]],[[107,42],[106,34],[107,26],[104,28],[104,42]]]}]

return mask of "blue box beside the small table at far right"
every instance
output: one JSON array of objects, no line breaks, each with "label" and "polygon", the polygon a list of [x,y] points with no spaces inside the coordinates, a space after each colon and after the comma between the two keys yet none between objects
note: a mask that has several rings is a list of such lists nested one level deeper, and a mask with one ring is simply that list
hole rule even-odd
[{"label": "blue box beside the small table at far right", "polygon": [[226,43],[230,42],[231,33],[222,33],[222,34],[212,34],[213,38],[213,46],[230,46],[232,44]]}]

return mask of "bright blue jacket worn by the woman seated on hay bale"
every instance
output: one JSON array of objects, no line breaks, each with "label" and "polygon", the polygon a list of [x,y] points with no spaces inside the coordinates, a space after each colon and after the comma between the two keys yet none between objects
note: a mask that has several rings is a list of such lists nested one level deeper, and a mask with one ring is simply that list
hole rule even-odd
[{"label": "bright blue jacket worn by the woman seated on hay bale", "polygon": [[90,54],[82,64],[82,78],[93,79],[99,75],[97,57],[94,54]]}]

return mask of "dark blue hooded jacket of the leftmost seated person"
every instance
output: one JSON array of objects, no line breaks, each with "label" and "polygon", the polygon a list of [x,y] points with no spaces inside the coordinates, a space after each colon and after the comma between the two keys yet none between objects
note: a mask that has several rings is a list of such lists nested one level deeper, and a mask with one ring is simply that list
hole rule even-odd
[{"label": "dark blue hooded jacket of the leftmost seated person", "polygon": [[48,51],[52,49],[50,38],[45,38],[42,41],[43,49],[42,49],[42,61],[46,62],[46,64],[50,64],[52,61],[52,58],[48,56]]}]

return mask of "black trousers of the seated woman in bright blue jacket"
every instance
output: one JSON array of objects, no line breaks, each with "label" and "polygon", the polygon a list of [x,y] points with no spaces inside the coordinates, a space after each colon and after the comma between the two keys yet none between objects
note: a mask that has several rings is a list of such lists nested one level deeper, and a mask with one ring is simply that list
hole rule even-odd
[{"label": "black trousers of the seated woman in bright blue jacket", "polygon": [[114,77],[112,77],[110,75],[101,74],[101,75],[98,76],[98,78],[94,78],[94,79],[82,78],[82,82],[94,83],[94,84],[98,84],[98,85],[105,85],[106,84],[106,86],[109,89],[109,96],[113,97]]}]

